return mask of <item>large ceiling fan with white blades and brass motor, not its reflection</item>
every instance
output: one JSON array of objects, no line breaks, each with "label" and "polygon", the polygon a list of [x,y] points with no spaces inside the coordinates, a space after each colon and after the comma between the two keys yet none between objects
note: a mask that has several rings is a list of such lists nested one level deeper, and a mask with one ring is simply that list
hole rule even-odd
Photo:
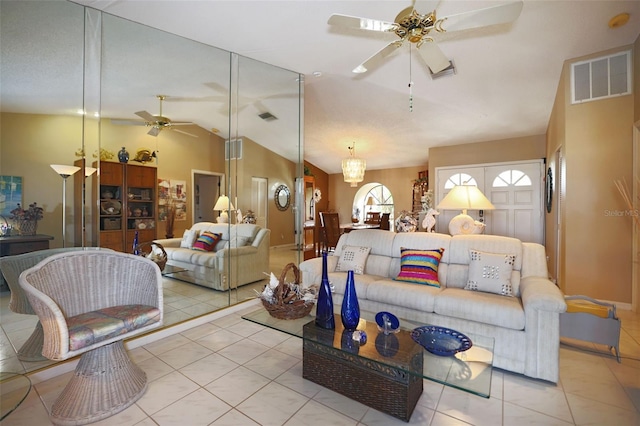
[{"label": "large ceiling fan with white blades and brass motor, not its reflection", "polygon": [[[417,3],[421,2],[418,1]],[[444,18],[437,18],[435,10],[423,14],[419,9],[420,4],[416,5],[416,0],[412,0],[411,6],[402,10],[396,16],[394,22],[334,14],[331,15],[328,23],[346,28],[395,33],[400,38],[400,40],[394,40],[387,44],[369,59],[358,65],[353,70],[354,73],[364,73],[379,65],[387,56],[395,52],[405,40],[408,40],[416,45],[424,62],[431,72],[436,74],[451,64],[432,37],[433,33],[468,30],[515,21],[520,16],[522,1]]]}]

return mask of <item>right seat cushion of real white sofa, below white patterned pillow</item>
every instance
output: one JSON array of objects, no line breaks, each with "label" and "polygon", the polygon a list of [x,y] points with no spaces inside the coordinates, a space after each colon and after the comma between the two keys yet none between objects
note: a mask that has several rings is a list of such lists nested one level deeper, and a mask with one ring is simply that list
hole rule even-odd
[{"label": "right seat cushion of real white sofa, below white patterned pillow", "polygon": [[519,298],[460,288],[442,290],[435,300],[435,312],[514,330],[524,330],[525,325],[524,309]]}]

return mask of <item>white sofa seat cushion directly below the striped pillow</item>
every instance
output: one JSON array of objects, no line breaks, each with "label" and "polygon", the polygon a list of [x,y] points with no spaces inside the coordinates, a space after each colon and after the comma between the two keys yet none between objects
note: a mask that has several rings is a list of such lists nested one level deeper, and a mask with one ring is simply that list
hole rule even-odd
[{"label": "white sofa seat cushion directly below the striped pillow", "polygon": [[441,291],[442,289],[429,285],[412,285],[391,278],[381,278],[367,286],[366,299],[389,306],[433,312]]}]

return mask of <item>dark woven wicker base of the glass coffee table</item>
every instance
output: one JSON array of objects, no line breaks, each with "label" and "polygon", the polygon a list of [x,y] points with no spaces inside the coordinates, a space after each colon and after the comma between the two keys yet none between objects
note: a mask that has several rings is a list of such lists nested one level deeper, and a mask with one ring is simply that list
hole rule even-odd
[{"label": "dark woven wicker base of the glass coffee table", "polygon": [[[422,353],[414,360],[422,371]],[[304,340],[302,377],[405,422],[420,395],[422,376]]]}]

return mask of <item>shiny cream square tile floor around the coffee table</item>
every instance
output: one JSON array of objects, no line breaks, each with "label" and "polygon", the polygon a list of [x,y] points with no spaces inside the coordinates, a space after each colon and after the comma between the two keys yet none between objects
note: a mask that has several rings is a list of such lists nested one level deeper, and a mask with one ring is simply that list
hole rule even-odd
[{"label": "shiny cream square tile floor around the coffee table", "polygon": [[[301,340],[242,320],[255,304],[137,347],[146,394],[96,425],[403,425],[301,377]],[[619,311],[618,364],[606,348],[563,339],[557,385],[494,370],[491,398],[425,380],[412,425],[638,425],[640,315]],[[49,425],[65,373],[35,384],[6,426]]]}]

